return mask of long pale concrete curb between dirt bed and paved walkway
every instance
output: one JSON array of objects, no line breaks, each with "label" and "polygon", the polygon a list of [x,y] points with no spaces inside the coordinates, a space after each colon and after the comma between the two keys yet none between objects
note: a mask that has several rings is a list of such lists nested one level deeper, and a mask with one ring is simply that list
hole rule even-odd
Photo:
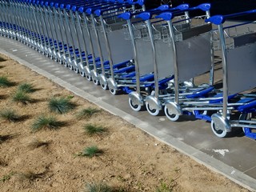
[{"label": "long pale concrete curb between dirt bed and paved walkway", "polygon": [[110,112],[111,114],[117,115],[125,119],[127,122],[130,122],[134,126],[137,126],[138,128],[145,131],[147,134],[150,134],[159,141],[166,143],[166,145],[169,145],[174,149],[180,151],[182,154],[188,155],[190,158],[193,158],[196,162],[201,163],[202,165],[208,167],[210,170],[214,170],[215,172],[224,175],[226,178],[229,178],[231,181],[238,183],[238,185],[243,186],[250,191],[256,191],[256,179],[251,178],[246,174],[243,174],[242,171],[234,169],[234,167],[228,166],[225,163],[219,161],[218,159],[210,157],[210,155],[205,154],[202,151],[187,145],[186,143],[178,140],[178,138],[163,134],[162,132],[155,132],[156,129],[154,128],[154,126],[150,126],[148,122],[143,122],[138,118],[135,118],[134,116],[127,114],[126,112],[119,110],[118,108],[115,108],[114,106],[106,102],[103,102],[100,98],[96,98],[93,95],[78,89],[70,83],[55,77],[53,74],[50,74],[45,70],[41,70],[37,66],[34,66],[33,64],[30,64],[29,62],[26,62],[25,60],[16,57],[14,54],[6,52],[6,50],[2,50],[0,48],[0,53],[5,54],[6,56],[14,59],[14,61],[17,61],[20,64],[29,67],[31,70],[34,70],[38,74],[49,78],[51,81],[64,87],[66,90],[70,90],[74,94],[85,98],[89,102],[93,102],[94,104],[100,106],[102,109]]}]

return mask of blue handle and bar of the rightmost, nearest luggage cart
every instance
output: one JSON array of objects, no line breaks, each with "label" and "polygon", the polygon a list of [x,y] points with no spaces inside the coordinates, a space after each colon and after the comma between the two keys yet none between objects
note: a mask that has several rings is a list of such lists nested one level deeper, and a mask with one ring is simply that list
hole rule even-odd
[{"label": "blue handle and bar of the rightmost, nearest luggage cart", "polygon": [[256,13],[256,10],[247,10],[247,11],[243,11],[236,14],[226,14],[226,15],[218,14],[210,18],[207,18],[206,22],[211,22],[211,23],[214,23],[215,25],[221,25],[226,21],[226,18],[235,18],[235,17],[246,15],[246,14],[255,14],[255,13]]}]

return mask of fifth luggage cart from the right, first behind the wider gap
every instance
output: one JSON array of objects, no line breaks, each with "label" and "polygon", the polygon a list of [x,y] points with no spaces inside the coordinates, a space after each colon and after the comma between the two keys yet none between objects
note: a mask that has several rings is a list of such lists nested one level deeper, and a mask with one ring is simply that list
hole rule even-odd
[{"label": "fifth luggage cart from the right, first behind the wider gap", "polygon": [[[145,9],[144,2],[138,1],[134,2],[141,7],[141,9],[131,8],[132,13],[137,13]],[[134,3],[132,6],[134,6]],[[129,90],[126,87],[131,86],[129,77],[133,77],[133,74],[130,74],[134,71],[133,63],[133,52],[131,43],[125,39],[125,29],[123,25],[126,21],[122,18],[118,18],[119,14],[127,11],[118,10],[110,13],[110,9],[98,9],[94,11],[94,18],[97,19],[97,30],[98,37],[105,41],[106,47],[103,49],[106,50],[105,55],[102,55],[103,59],[106,59],[109,64],[102,68],[102,73],[99,74],[99,82],[102,86],[102,89],[106,90],[109,86],[111,94],[116,94],[117,90]],[[104,53],[104,52],[103,52]],[[127,84],[126,84],[127,82]]]}]

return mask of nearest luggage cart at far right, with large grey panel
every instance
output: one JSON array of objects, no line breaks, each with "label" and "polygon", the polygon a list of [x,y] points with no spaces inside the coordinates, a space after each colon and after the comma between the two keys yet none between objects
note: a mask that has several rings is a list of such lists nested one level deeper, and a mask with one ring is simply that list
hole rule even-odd
[{"label": "nearest luggage cart at far right, with large grey panel", "polygon": [[223,70],[223,104],[222,113],[211,116],[211,129],[219,138],[230,134],[233,127],[242,127],[246,136],[256,138],[256,122],[251,118],[256,110],[255,94],[244,95],[238,101],[234,110],[241,113],[239,119],[228,117],[228,106],[235,105],[228,101],[228,95],[242,93],[255,87],[256,71],[256,25],[254,22],[240,22],[231,26],[226,25],[226,19],[245,14],[256,14],[256,10],[229,15],[216,15],[206,22],[218,26],[219,43],[222,50]]}]

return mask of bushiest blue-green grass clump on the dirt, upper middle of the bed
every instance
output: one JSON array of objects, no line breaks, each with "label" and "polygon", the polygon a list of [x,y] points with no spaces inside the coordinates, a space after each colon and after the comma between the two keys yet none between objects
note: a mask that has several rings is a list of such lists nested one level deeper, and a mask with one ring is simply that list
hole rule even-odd
[{"label": "bushiest blue-green grass clump on the dirt, upper middle of the bed", "polygon": [[70,110],[73,110],[75,105],[70,102],[70,98],[51,98],[48,104],[50,111],[58,114],[66,114]]}]

